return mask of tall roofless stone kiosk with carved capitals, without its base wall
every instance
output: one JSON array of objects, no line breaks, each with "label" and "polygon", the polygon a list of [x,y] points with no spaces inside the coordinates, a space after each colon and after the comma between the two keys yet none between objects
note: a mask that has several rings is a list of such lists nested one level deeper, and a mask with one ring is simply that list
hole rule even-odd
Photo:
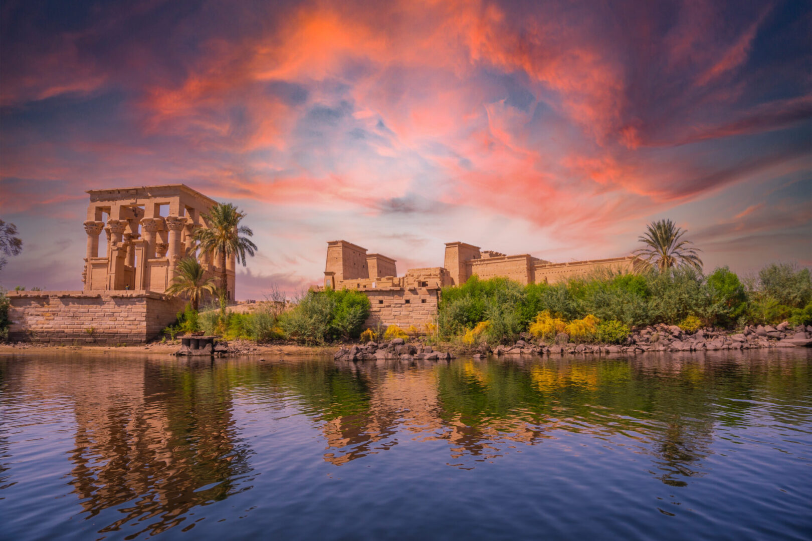
[{"label": "tall roofless stone kiosk with carved capitals, without its base wall", "polygon": [[[84,291],[163,293],[175,268],[194,250],[195,230],[216,202],[184,184],[89,190]],[[102,239],[102,231],[105,237]],[[105,247],[104,255],[100,248]],[[206,273],[219,277],[216,254],[200,254]],[[235,255],[227,258],[227,294],[234,299]]]}]

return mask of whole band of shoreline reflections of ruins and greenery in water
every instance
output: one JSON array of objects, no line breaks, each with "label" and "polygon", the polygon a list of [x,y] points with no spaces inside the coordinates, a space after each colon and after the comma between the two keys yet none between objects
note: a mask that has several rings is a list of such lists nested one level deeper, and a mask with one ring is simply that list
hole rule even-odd
[{"label": "whole band of shoreline reflections of ruins and greenery in water", "polygon": [[26,495],[26,479],[15,474],[15,449],[30,451],[26,445],[37,438],[26,435],[35,427],[45,440],[71,433],[71,449],[61,452],[70,466],[60,471],[80,506],[71,510],[73,520],[104,513],[94,530],[123,532],[125,539],[182,523],[183,530],[192,528],[203,520],[197,508],[253,487],[261,473],[253,464],[257,453],[283,466],[285,457],[267,457],[273,449],[265,440],[255,447],[244,436],[254,423],[266,434],[282,423],[316,431],[315,439],[297,440],[322,446],[323,461],[335,466],[374,461],[410,442],[426,449],[427,465],[473,470],[510,461],[525,446],[576,435],[648,457],[642,463],[654,479],[686,487],[690,478],[711,474],[705,462],[714,441],[735,437],[738,428],[781,425],[808,434],[810,363],[797,353],[773,357],[411,365],[4,359],[0,502],[11,490]]}]

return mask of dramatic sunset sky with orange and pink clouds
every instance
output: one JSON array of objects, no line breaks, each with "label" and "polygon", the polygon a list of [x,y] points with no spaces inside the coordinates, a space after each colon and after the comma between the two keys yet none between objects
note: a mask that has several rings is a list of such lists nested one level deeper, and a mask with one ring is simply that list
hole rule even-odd
[{"label": "dramatic sunset sky with orange and pink clouds", "polygon": [[812,265],[812,2],[0,5],[0,286],[80,290],[89,197],[239,206],[237,298],[321,283],[344,239],[628,255],[671,218],[706,270]]}]

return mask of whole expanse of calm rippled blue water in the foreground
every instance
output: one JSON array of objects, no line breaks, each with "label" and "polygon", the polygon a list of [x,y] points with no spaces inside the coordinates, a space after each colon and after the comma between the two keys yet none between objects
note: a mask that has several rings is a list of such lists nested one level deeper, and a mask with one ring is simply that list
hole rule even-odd
[{"label": "whole expanse of calm rippled blue water in the foreground", "polygon": [[812,354],[0,358],[2,539],[810,539]]}]

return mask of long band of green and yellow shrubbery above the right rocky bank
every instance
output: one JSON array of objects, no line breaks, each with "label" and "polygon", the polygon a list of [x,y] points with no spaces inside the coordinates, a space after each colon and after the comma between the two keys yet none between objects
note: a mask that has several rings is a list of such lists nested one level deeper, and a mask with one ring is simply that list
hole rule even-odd
[{"label": "long band of green and yellow shrubbery above the right rocky bank", "polygon": [[465,337],[490,322],[482,329],[490,343],[514,341],[525,331],[544,340],[567,332],[576,341],[618,341],[641,325],[678,324],[695,332],[705,325],[784,320],[812,324],[809,269],[770,264],[747,286],[727,267],[708,276],[691,267],[638,275],[603,271],[549,286],[471,277],[443,288],[438,316],[443,338]]}]

